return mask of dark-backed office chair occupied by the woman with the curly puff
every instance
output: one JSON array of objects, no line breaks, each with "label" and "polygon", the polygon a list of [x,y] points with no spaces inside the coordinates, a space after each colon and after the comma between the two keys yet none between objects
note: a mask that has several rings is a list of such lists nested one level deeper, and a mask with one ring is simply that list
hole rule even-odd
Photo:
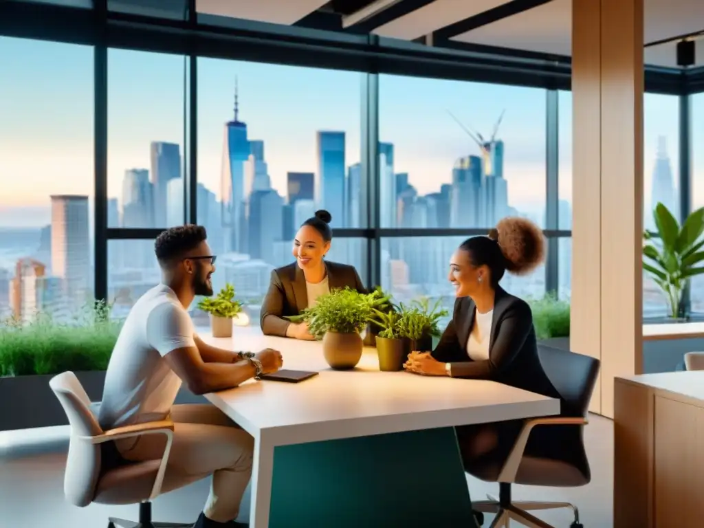
[{"label": "dark-backed office chair occupied by the woman with the curly puff", "polygon": [[[514,502],[511,498],[511,484],[574,487],[591,481],[589,460],[584,450],[584,425],[588,423],[586,415],[600,362],[551,346],[539,345],[538,353],[544,372],[560,395],[560,416],[526,420],[510,453],[499,460],[477,456],[464,461],[465,471],[472,476],[485,482],[498,482],[498,501],[489,495],[488,501],[472,504],[476,511],[496,513],[491,528],[508,527],[510,520],[529,528],[553,528],[528,512],[555,508],[572,508],[574,522],[571,528],[583,528],[579,522],[579,510],[570,503]],[[555,446],[554,452],[539,455],[526,450],[535,427],[543,429],[543,436],[549,435],[551,446]]]}]

